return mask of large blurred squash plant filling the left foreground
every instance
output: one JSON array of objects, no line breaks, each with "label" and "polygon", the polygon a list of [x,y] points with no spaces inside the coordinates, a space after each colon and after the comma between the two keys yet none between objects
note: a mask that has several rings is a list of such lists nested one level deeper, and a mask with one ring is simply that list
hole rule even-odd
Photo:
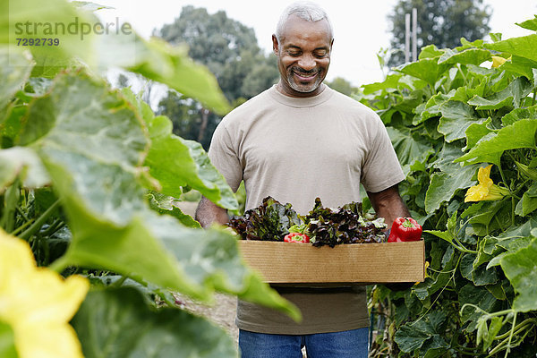
[{"label": "large blurred squash plant filling the left foreground", "polygon": [[[234,235],[202,230],[178,209],[176,198],[191,188],[226,209],[237,209],[237,201],[200,144],[172,134],[171,121],[155,116],[131,90],[113,89],[107,70],[139,73],[221,114],[228,104],[214,76],[184,48],[134,31],[83,38],[81,32],[51,35],[46,25],[38,33],[17,31],[25,23],[96,24],[88,8],[98,5],[17,0],[0,8],[2,247],[24,241],[34,267],[91,283],[78,311],[78,303],[71,313],[55,308],[67,322],[76,312],[71,324],[80,345],[76,337],[31,330],[21,323],[22,313],[0,308],[0,355],[29,356],[26,343],[34,337],[57,349],[81,346],[86,357],[237,356],[231,337],[181,310],[172,292],[207,303],[215,291],[235,294],[295,320],[300,312],[244,266]],[[20,45],[21,38],[41,37],[57,38],[59,45]],[[35,291],[34,276],[21,276],[28,271],[22,262],[3,262],[3,303]],[[21,292],[5,284],[16,279],[24,281]],[[21,304],[50,313],[59,296],[46,297],[40,302],[32,294]],[[39,349],[44,354],[45,345]]]}]

